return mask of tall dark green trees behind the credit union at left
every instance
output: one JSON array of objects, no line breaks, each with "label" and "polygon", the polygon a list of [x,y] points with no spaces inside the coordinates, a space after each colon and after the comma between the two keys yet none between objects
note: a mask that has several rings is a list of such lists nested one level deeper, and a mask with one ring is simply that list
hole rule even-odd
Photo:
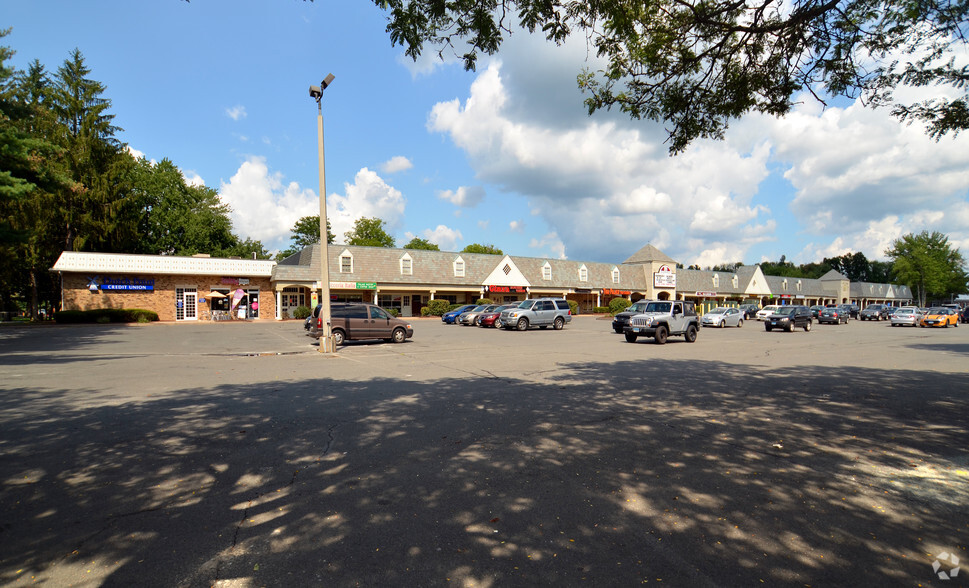
[{"label": "tall dark green trees behind the credit union at left", "polygon": [[0,309],[55,308],[64,250],[268,257],[232,233],[215,190],[131,156],[80,50],[54,75],[37,60],[16,71],[13,55],[0,46]]}]

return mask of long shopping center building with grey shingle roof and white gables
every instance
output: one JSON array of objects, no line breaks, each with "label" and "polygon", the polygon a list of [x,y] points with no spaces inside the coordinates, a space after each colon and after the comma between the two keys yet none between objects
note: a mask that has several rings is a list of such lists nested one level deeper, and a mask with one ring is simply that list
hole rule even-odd
[{"label": "long shopping center building with grey shingle roof and white gables", "polygon": [[[65,310],[142,308],[164,321],[282,320],[314,306],[323,268],[320,246],[280,262],[65,251],[52,268],[61,276]],[[742,303],[910,304],[907,286],[850,282],[836,271],[820,279],[767,276],[760,266],[735,272],[689,270],[652,245],[619,263],[328,245],[331,300],[373,302],[401,316],[420,316],[430,300],[514,302],[555,296],[580,313],[613,298],[690,300],[701,311]]]}]

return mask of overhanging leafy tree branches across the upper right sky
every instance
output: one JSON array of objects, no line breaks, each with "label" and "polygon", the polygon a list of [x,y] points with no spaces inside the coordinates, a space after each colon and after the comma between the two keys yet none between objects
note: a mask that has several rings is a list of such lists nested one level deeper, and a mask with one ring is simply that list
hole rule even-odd
[{"label": "overhanging leafy tree branches across the upper right sky", "polygon": [[[425,47],[461,54],[466,69],[496,53],[521,27],[561,43],[582,34],[604,61],[579,87],[589,113],[619,108],[667,125],[670,152],[701,137],[722,139],[749,112],[780,116],[800,92],[862,98],[935,138],[969,127],[969,3],[949,0],[374,0],[395,45],[417,59]],[[460,47],[460,49],[459,49]],[[903,88],[945,86],[922,102]],[[902,92],[899,92],[902,94]]]}]

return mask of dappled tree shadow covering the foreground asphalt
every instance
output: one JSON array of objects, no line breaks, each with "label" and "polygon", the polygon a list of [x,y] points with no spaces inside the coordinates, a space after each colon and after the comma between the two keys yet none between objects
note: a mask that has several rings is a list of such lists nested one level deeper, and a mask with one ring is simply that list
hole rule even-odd
[{"label": "dappled tree shadow covering the foreground asphalt", "polygon": [[967,382],[664,361],[83,411],[3,389],[0,583],[928,583],[969,538]]}]

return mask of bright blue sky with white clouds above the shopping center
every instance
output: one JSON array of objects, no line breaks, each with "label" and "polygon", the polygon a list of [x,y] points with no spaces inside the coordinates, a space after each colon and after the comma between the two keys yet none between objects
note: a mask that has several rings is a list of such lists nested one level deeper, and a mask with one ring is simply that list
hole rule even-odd
[{"label": "bright blue sky with white clouds above the shopping center", "polygon": [[[620,262],[646,243],[702,266],[797,263],[938,230],[969,254],[969,135],[935,142],[884,110],[811,98],[748,116],[669,157],[662,126],[589,117],[583,39],[512,35],[475,72],[392,47],[372,2],[0,0],[4,42],[50,72],[76,47],[107,87],[120,139],[219,191],[235,232],[269,249],[319,211],[323,97],[328,216],[398,245]],[[933,91],[939,91],[933,89]],[[902,96],[921,97],[911,92]]]}]

